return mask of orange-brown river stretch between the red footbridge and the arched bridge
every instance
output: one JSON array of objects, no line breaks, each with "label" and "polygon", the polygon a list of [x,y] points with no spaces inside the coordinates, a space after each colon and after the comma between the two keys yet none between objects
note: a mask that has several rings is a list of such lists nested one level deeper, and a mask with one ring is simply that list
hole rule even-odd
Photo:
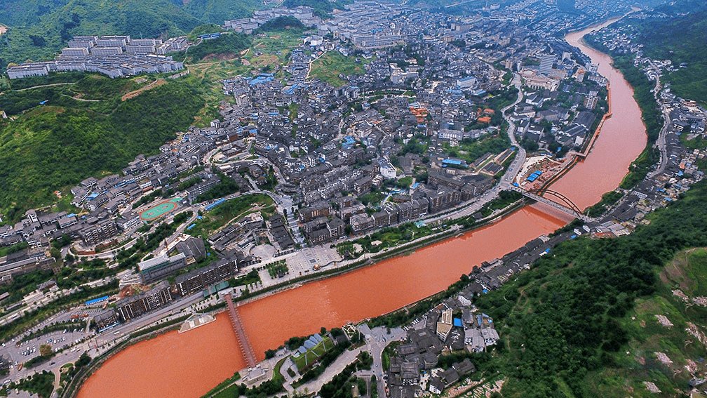
[{"label": "orange-brown river stretch between the red footbridge and the arched bridge", "polygon": [[280,346],[290,336],[377,317],[445,290],[474,266],[518,249],[566,222],[564,215],[560,219],[528,206],[489,227],[408,256],[244,305],[240,315],[255,353],[262,357],[265,350]]}]

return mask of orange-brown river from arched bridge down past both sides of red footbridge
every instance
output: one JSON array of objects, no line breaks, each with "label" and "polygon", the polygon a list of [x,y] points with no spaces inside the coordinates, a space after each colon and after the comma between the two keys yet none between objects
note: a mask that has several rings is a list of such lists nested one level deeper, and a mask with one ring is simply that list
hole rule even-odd
[{"label": "orange-brown river from arched bridge down past both sides of red footbridge", "polygon": [[[542,205],[541,205],[542,206]],[[385,314],[444,290],[479,263],[503,256],[568,222],[527,206],[489,227],[351,273],[239,307],[259,360],[264,351],[349,321]],[[245,367],[225,313],[187,333],[170,332],[107,360],[78,398],[196,398]]]}]

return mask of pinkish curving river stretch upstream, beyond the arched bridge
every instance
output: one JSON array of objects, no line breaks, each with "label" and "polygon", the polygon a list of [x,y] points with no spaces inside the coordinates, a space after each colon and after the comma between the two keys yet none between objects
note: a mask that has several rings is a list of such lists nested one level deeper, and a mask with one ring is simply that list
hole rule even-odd
[{"label": "pinkish curving river stretch upstream, beyond the arched bridge", "polygon": [[588,30],[567,35],[566,40],[599,66],[599,73],[609,79],[612,117],[604,121],[589,156],[552,184],[551,189],[570,198],[584,209],[613,191],[629,171],[631,161],[645,148],[645,125],[641,109],[633,99],[633,89],[624,76],[611,65],[611,58],[581,42]]}]

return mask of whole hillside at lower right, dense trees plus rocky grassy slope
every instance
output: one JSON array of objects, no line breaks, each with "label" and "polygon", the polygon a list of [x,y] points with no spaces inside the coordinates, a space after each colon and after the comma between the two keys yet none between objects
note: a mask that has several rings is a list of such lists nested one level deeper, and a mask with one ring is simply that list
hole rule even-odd
[{"label": "whole hillside at lower right, dense trees plus rocky grassy slope", "polygon": [[[476,305],[502,337],[479,368],[506,380],[504,397],[655,396],[644,381],[667,393],[662,396],[682,395],[690,371],[707,374],[700,363],[707,341],[699,337],[707,331],[707,311],[671,290],[679,285],[689,300],[706,295],[705,256],[691,252],[689,266],[677,270],[671,261],[682,249],[707,246],[706,203],[702,181],[633,234],[568,241],[501,290],[479,297]],[[674,326],[658,326],[655,315]],[[673,364],[660,363],[660,353]]]}]

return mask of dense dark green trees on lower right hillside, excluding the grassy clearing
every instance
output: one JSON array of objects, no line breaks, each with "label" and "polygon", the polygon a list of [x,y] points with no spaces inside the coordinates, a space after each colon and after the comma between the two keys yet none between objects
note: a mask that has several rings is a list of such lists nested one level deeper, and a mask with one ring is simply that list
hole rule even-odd
[{"label": "dense dark green trees on lower right hillside, excluding the grassy clearing", "polygon": [[508,377],[503,396],[595,397],[602,375],[625,373],[633,308],[660,291],[656,270],[677,251],[707,245],[706,200],[707,184],[697,183],[633,234],[566,241],[479,297],[477,307],[508,339],[498,347]]}]

